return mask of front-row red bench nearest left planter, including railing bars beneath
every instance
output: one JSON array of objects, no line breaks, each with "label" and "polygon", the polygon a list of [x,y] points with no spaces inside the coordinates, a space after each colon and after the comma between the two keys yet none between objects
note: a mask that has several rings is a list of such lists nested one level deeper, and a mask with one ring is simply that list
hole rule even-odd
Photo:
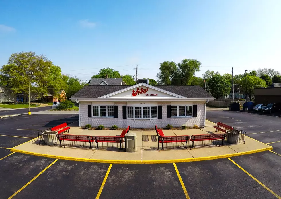
[{"label": "front-row red bench nearest left planter, including railing bars beneath", "polygon": [[70,147],[83,147],[83,148],[93,148],[92,142],[93,137],[88,135],[70,135],[70,134],[57,134],[58,144],[60,146],[70,146]]}]

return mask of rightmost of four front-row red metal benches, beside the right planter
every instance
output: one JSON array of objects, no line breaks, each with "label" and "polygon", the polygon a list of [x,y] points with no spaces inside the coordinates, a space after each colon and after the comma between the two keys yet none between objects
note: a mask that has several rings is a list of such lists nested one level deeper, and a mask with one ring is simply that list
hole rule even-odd
[{"label": "rightmost of four front-row red metal benches, beside the right planter", "polygon": [[[221,145],[223,145],[223,141],[225,140],[225,137],[226,137],[225,133],[192,135],[192,136],[190,136],[190,140],[189,140],[192,142],[192,146],[190,143],[190,149],[191,149],[191,147],[194,147],[194,142],[196,142],[196,141],[199,142],[199,144],[197,146],[211,145],[208,142],[203,142],[203,141],[208,141],[208,140],[219,140],[219,146],[220,146],[220,140],[222,140]],[[201,141],[202,141],[202,143],[201,143]]]}]

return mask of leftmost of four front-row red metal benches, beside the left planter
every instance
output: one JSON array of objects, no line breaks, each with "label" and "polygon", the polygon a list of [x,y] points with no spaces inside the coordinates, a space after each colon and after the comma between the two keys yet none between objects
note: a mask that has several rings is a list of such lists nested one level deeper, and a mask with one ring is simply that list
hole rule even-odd
[{"label": "leftmost of four front-row red metal benches, beside the left planter", "polygon": [[[60,141],[60,146],[62,146],[61,142],[63,141],[63,148],[65,148],[65,145],[66,146],[79,146],[79,145],[81,145],[80,142],[89,142],[90,148],[91,148],[91,143],[93,142],[93,137],[88,136],[88,135],[57,134],[56,137]],[[70,143],[64,142],[64,141],[70,141]]]}]

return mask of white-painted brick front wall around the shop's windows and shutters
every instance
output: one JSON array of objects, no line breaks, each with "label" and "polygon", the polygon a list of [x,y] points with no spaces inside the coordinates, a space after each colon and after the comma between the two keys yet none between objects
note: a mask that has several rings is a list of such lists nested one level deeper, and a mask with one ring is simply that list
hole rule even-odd
[{"label": "white-painted brick front wall around the shop's windows and shutters", "polygon": [[[118,105],[118,118],[101,118],[91,117],[88,118],[88,105],[91,102],[80,102],[80,121],[81,126],[91,124],[92,126],[104,125],[105,127],[111,127],[117,125],[118,127],[126,127],[130,125],[132,128],[147,128],[165,127],[167,124],[171,124],[174,127],[186,126],[204,126],[205,122],[205,102],[193,102],[193,105],[197,105],[197,117],[179,117],[179,118],[167,118],[167,105],[171,105],[170,102],[158,102],[158,105],[162,105],[162,119],[151,120],[137,120],[137,119],[123,119],[122,106],[126,105],[126,102],[115,102],[114,105]],[[184,103],[183,103],[184,104]]]}]

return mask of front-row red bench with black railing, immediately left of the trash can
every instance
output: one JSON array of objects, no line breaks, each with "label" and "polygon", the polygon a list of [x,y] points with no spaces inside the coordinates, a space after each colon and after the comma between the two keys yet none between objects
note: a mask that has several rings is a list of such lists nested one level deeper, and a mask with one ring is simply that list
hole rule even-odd
[{"label": "front-row red bench with black railing, immediately left of the trash can", "polygon": [[123,148],[124,138],[121,136],[93,136],[96,148]]}]

